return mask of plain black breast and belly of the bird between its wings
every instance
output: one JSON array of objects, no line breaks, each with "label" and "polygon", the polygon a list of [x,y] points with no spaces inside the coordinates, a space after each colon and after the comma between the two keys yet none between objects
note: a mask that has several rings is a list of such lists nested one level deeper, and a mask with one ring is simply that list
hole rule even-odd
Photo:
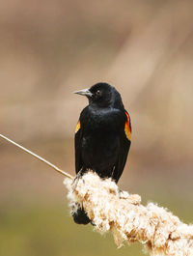
[{"label": "plain black breast and belly of the bird between its wings", "polygon": [[120,152],[120,131],[124,131],[122,112],[117,109],[87,108],[80,123],[84,166],[97,171],[112,169]]}]

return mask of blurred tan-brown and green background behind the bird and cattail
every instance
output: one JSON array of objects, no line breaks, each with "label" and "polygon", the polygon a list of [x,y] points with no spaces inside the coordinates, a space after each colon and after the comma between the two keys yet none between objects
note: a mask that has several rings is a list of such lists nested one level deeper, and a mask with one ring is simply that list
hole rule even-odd
[{"label": "blurred tan-brown and green background behind the bird and cattail", "polygon": [[[132,145],[119,185],[193,221],[193,2],[0,2],[0,133],[74,174],[73,135],[99,81]],[[142,255],[69,216],[63,177],[0,139],[0,255]],[[76,244],[74,246],[74,244]]]}]

